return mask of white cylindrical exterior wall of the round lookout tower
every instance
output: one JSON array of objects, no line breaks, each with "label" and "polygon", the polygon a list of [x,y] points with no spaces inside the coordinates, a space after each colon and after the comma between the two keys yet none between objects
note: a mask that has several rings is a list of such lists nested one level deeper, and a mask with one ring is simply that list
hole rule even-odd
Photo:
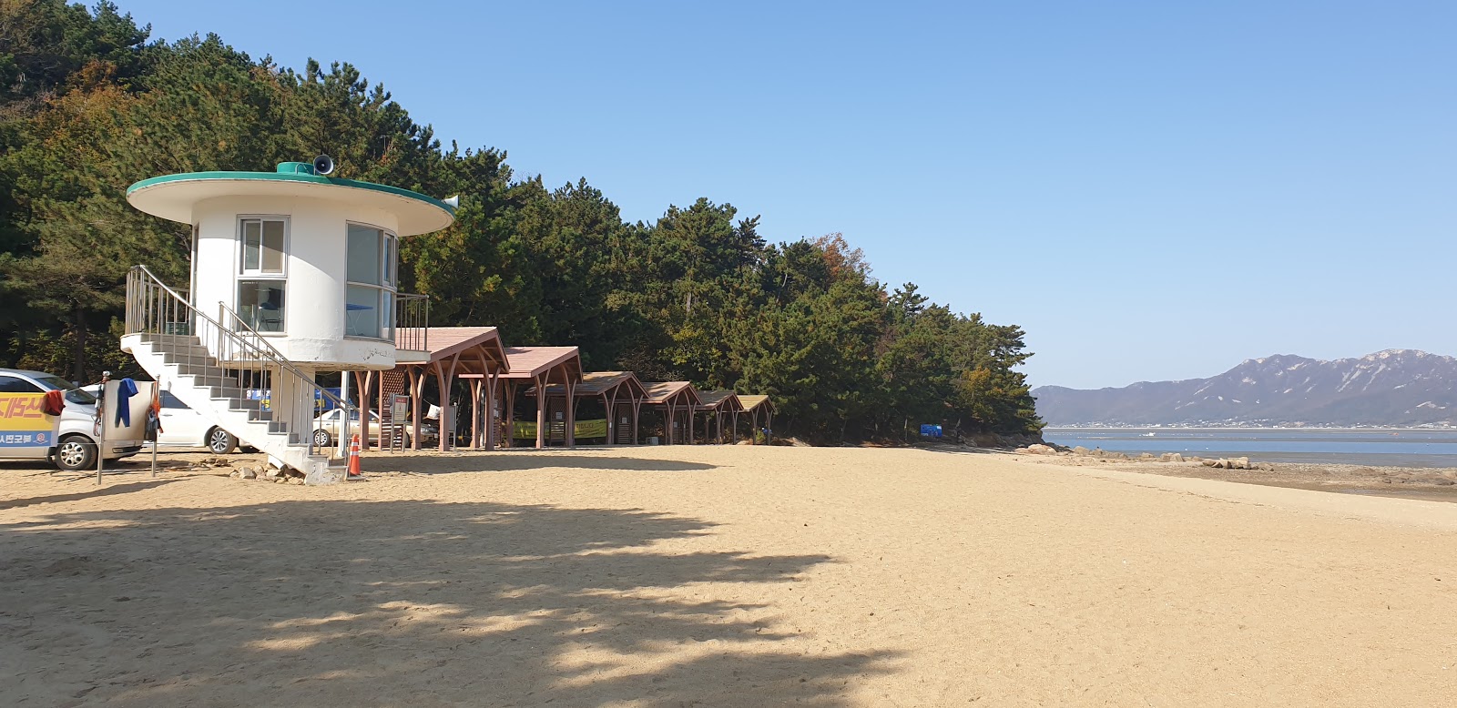
[{"label": "white cylindrical exterior wall of the round lookout tower", "polygon": [[[239,219],[287,217],[284,331],[267,334],[290,361],[322,370],[392,369],[395,342],[345,338],[348,223],[398,230],[393,214],[344,201],[305,197],[219,197],[192,207],[198,224],[192,304],[217,318],[217,303],[237,310],[242,245]],[[224,322],[226,325],[226,322]]]}]

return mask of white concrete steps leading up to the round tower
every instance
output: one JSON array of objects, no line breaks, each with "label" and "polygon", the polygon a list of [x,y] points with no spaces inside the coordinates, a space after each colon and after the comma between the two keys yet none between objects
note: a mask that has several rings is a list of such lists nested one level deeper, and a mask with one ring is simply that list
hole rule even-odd
[{"label": "white concrete steps leading up to the round tower", "polygon": [[312,425],[290,430],[290,421],[281,420],[286,415],[264,411],[261,401],[248,399],[248,390],[239,383],[252,377],[261,380],[261,371],[240,376],[237,370],[224,369],[192,335],[130,334],[121,338],[121,350],[198,415],[232,433],[242,444],[267,453],[275,465],[281,462],[302,472],[310,484],[342,478],[345,460],[312,444]]}]

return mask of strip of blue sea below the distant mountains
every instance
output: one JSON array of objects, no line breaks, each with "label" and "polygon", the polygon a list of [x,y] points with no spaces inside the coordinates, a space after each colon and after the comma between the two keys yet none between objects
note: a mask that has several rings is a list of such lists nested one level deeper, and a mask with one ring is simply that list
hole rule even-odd
[{"label": "strip of blue sea below the distant mountains", "polygon": [[1045,428],[1068,447],[1317,465],[1457,468],[1457,428]]}]

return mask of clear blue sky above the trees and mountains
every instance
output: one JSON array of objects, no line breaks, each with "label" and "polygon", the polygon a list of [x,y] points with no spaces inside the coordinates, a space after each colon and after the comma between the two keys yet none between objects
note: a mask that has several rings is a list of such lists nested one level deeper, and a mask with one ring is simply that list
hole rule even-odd
[{"label": "clear blue sky above the trees and mountains", "polygon": [[1021,326],[1033,386],[1457,355],[1457,3],[117,1],[351,63],[629,221],[707,197],[839,232]]}]

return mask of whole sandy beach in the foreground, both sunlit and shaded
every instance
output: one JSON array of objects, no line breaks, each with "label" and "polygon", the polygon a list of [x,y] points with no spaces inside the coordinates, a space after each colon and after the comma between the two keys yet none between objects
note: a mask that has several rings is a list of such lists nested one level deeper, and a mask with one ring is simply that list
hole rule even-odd
[{"label": "whole sandy beach in the foreground, both sunlit and shaded", "polygon": [[1457,504],[905,449],[136,469],[0,466],[0,704],[1457,704]]}]

